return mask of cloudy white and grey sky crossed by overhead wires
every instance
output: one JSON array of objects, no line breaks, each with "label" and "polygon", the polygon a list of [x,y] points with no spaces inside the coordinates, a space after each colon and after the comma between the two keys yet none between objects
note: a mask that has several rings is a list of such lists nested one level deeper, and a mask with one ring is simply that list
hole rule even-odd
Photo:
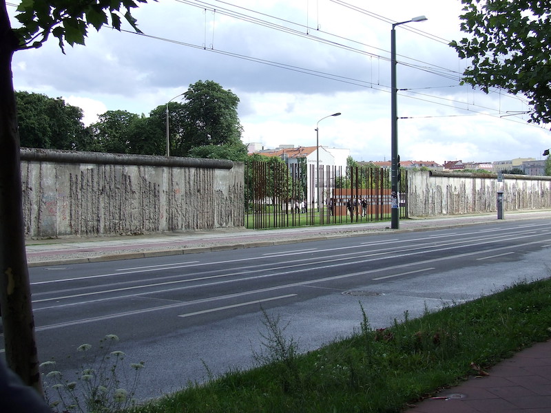
[{"label": "cloudy white and grey sky crossed by overhead wires", "polygon": [[542,159],[551,147],[549,128],[518,115],[523,99],[459,86],[467,63],[447,43],[464,37],[460,0],[159,0],[133,14],[144,36],[91,28],[65,55],[56,39],[17,52],[14,88],[61,96],[89,124],[107,110],[148,115],[210,80],[240,98],[245,143],[313,146],[318,121],[341,112],[319,123],[320,145],[388,160],[391,23],[425,15],[396,29],[402,160]]}]

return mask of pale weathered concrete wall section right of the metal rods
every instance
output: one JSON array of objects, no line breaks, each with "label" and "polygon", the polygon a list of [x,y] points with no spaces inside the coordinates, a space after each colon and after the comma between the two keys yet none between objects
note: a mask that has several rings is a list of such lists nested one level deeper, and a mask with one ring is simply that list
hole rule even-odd
[{"label": "pale weathered concrete wall section right of the metal rods", "polygon": [[504,211],[551,208],[548,176],[410,171],[408,187],[410,217],[497,211],[497,191]]}]

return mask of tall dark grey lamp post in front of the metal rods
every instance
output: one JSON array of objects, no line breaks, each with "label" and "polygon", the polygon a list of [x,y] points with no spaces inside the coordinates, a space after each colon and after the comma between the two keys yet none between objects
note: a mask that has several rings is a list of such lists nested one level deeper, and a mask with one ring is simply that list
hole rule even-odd
[{"label": "tall dark grey lamp post in front of the metal rods", "polygon": [[398,191],[398,118],[396,96],[396,26],[412,21],[425,21],[424,16],[413,17],[411,20],[393,23],[391,30],[391,228],[399,228],[399,191]]}]

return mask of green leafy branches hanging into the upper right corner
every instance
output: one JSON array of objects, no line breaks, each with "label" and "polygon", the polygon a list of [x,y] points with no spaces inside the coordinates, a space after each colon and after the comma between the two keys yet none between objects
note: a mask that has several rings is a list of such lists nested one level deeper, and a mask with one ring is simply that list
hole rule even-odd
[{"label": "green leafy branches hanging into the upper right corner", "polygon": [[461,31],[469,38],[450,43],[472,59],[464,81],[501,87],[528,97],[530,121],[551,121],[551,3],[549,1],[461,0]]}]

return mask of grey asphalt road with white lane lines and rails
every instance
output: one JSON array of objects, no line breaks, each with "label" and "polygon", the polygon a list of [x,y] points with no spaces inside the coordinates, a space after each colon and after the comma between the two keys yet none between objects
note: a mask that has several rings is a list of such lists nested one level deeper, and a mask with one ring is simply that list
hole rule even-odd
[{"label": "grey asphalt road with white lane lines and rails", "polygon": [[205,366],[252,366],[262,308],[311,350],[359,328],[360,303],[380,328],[548,277],[550,246],[548,223],[524,220],[30,268],[39,357],[72,374],[77,346],[115,334],[129,363],[145,361],[138,397],[159,396],[206,379]]}]

